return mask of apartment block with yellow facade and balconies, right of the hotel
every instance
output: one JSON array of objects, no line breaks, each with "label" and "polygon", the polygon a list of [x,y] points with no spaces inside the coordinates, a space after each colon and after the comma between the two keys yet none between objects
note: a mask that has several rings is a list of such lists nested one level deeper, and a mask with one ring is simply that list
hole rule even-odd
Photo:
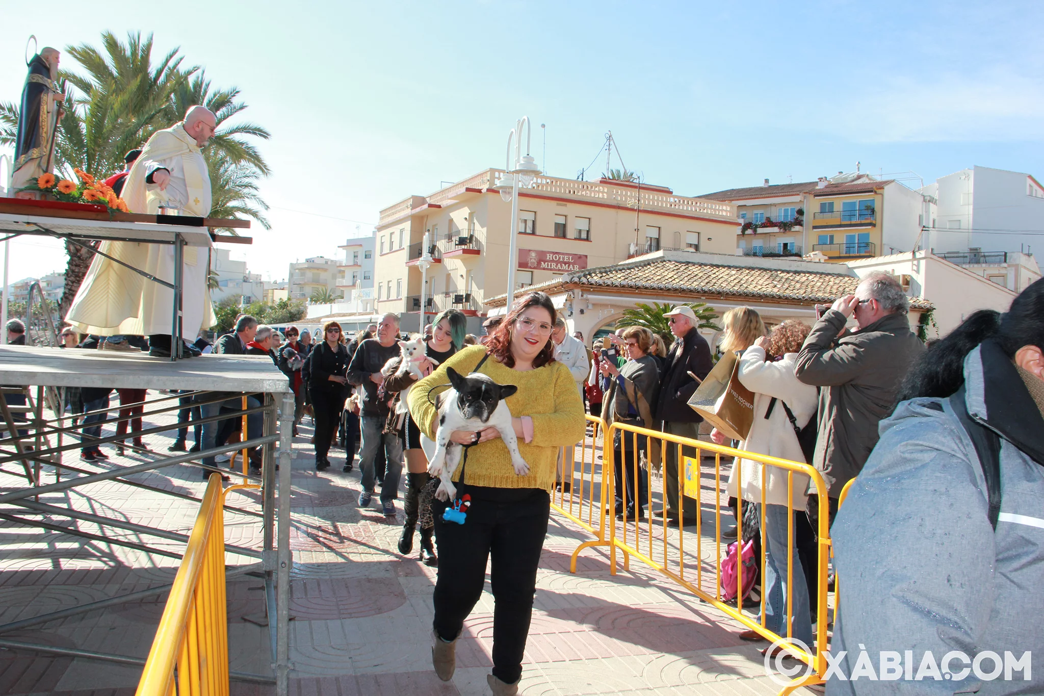
[{"label": "apartment block with yellow facade and balconies, right of the hotel", "polygon": [[841,173],[815,182],[728,189],[701,196],[736,205],[736,253],[828,261],[911,250],[929,203],[894,179]]}]

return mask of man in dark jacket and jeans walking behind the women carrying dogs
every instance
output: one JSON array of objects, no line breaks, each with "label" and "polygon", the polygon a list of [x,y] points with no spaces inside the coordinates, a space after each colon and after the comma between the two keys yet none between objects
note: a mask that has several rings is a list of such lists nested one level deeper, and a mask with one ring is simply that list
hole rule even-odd
[{"label": "man in dark jacket and jeans walking behind the women carrying dogs", "polygon": [[[377,452],[384,446],[387,466],[381,484],[381,504],[384,514],[395,514],[395,501],[399,497],[399,477],[402,475],[402,440],[398,433],[385,433],[384,422],[388,414],[387,402],[392,394],[380,387],[384,383],[381,367],[392,358],[401,354],[398,345],[399,317],[385,314],[377,326],[377,338],[367,338],[359,343],[348,367],[348,381],[360,387],[362,397],[362,447],[359,450],[359,466],[362,469],[362,493],[359,507],[370,504],[374,494]],[[380,395],[378,395],[380,390]]]}]

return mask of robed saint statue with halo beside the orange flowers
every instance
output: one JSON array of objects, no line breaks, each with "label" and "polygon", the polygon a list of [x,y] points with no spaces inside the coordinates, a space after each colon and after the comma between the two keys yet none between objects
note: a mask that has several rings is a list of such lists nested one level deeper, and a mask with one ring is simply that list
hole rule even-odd
[{"label": "robed saint statue with halo beside the orange flowers", "polygon": [[[18,117],[15,142],[15,173],[11,190],[28,186],[53,165],[54,136],[62,114],[65,95],[55,81],[58,76],[60,53],[47,47],[29,61],[29,74],[22,88],[22,104]],[[35,198],[38,194],[22,191],[17,198]]]}]

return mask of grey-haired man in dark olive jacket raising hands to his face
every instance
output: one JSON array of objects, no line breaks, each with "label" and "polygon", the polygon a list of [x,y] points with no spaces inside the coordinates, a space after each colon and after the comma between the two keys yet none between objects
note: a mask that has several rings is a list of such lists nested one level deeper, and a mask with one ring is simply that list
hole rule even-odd
[{"label": "grey-haired man in dark olive jacket raising hands to his face", "polygon": [[[877,445],[878,423],[892,413],[900,383],[924,351],[908,310],[894,277],[871,273],[815,322],[798,354],[798,379],[823,387],[813,462],[829,488],[831,520],[841,488],[862,471]],[[850,316],[858,330],[844,333]],[[816,509],[815,497],[808,500]]]}]

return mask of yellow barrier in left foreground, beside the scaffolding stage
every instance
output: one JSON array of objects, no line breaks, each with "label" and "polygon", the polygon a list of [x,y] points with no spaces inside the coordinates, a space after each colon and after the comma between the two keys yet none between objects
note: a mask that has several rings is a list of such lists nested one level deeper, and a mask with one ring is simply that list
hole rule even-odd
[{"label": "yellow barrier in left foreground, beside the scaffolding stage", "polygon": [[136,696],[227,696],[229,621],[224,595],[224,496],[211,474],[170,589]]}]

